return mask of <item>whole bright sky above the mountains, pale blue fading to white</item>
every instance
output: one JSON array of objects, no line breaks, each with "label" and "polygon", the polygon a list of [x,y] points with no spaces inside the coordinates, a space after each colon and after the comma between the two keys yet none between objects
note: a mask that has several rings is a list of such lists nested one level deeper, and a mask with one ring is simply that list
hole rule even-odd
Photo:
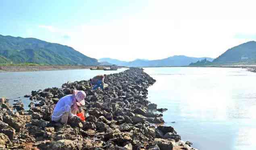
[{"label": "whole bright sky above the mountains, pale blue fading to white", "polygon": [[254,0],[1,0],[0,34],[92,58],[216,58],[256,40]]}]

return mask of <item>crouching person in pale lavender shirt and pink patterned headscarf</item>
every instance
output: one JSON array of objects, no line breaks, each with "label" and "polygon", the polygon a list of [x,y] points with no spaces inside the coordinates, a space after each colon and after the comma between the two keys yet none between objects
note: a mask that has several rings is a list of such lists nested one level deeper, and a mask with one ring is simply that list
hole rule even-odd
[{"label": "crouching person in pale lavender shirt and pink patterned headscarf", "polygon": [[74,90],[73,94],[62,97],[54,107],[52,122],[67,124],[68,118],[78,117],[78,107],[85,105],[84,91]]}]

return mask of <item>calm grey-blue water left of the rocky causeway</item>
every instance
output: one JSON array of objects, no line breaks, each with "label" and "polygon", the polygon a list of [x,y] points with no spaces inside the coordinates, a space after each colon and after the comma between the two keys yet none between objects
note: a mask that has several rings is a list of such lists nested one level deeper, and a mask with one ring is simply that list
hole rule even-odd
[{"label": "calm grey-blue water left of the rocky causeway", "polygon": [[[27,105],[31,101],[29,98],[23,96],[25,94],[31,94],[32,90],[37,91],[48,87],[61,87],[61,85],[67,81],[88,80],[96,75],[119,73],[125,70],[125,68],[118,69],[117,71],[79,69],[0,73],[0,97],[22,99],[25,109],[29,109]],[[10,100],[10,103],[13,103],[13,101]]]}]

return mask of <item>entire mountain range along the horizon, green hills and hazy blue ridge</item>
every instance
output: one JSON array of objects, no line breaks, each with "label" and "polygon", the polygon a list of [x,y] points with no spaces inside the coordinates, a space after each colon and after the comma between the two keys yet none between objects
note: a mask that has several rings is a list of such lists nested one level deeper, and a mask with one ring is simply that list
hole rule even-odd
[{"label": "entire mountain range along the horizon, green hills and hazy blue ridge", "polygon": [[94,59],[72,47],[49,43],[35,38],[0,35],[1,63],[39,63],[49,65],[120,65],[129,67],[160,67],[227,63],[256,63],[256,42],[250,41],[228,49],[216,59],[175,55],[165,59],[120,61],[118,59]]}]

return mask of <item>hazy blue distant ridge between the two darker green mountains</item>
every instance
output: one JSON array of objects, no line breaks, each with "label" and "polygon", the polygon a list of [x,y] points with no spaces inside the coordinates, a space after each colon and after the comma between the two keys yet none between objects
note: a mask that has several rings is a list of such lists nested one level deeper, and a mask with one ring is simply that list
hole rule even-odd
[{"label": "hazy blue distant ridge between the two darker green mountains", "polygon": [[166,59],[159,59],[159,60],[144,60],[144,59],[136,59],[134,61],[120,61],[118,59],[111,59],[111,58],[102,58],[99,61],[106,61],[108,63],[114,65],[121,65],[121,66],[129,66],[129,67],[160,67],[160,66],[184,66],[189,65],[191,62],[197,62],[202,59],[207,59],[208,61],[212,61],[212,58],[208,57],[187,57],[184,55],[175,55],[172,57],[168,57]]}]

